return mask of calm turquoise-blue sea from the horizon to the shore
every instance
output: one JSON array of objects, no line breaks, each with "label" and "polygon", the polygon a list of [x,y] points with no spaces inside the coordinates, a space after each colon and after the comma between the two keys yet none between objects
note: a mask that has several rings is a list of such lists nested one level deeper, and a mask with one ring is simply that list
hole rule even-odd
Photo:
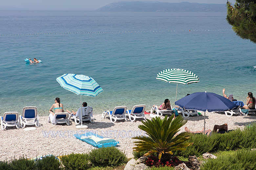
[{"label": "calm turquoise-blue sea from the horizon to the shore", "polygon": [[[222,95],[226,88],[228,95],[245,101],[247,92],[255,93],[256,48],[236,36],[225,16],[0,11],[0,113],[36,106],[40,115],[48,115],[55,97],[64,109],[77,110],[80,96],[56,81],[65,73],[91,76],[102,87],[104,92],[95,98],[82,96],[95,113],[136,104],[146,104],[148,110],[165,98],[174,103],[176,84],[156,80],[167,68],[200,77],[199,83],[178,85],[177,99],[204,91]],[[34,57],[42,63],[26,65],[24,59]]]}]

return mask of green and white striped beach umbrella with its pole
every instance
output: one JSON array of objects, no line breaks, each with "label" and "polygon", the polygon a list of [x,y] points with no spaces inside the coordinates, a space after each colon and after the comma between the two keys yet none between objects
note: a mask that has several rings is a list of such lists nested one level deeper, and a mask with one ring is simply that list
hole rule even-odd
[{"label": "green and white striped beach umbrella with its pole", "polygon": [[179,68],[163,70],[157,74],[156,78],[166,83],[177,84],[175,101],[177,100],[178,84],[191,84],[199,82],[199,77],[195,73]]}]

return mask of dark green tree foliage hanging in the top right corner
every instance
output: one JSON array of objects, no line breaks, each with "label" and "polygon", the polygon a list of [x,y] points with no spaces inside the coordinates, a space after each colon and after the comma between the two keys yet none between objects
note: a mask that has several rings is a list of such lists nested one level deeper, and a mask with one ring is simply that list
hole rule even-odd
[{"label": "dark green tree foliage hanging in the top right corner", "polygon": [[243,39],[256,43],[256,0],[236,0],[234,6],[227,1],[227,22]]}]

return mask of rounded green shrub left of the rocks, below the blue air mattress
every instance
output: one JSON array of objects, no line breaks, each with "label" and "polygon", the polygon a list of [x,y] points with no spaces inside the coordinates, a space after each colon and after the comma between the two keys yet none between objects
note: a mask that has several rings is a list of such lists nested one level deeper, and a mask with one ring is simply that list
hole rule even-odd
[{"label": "rounded green shrub left of the rocks, below the blue air mattress", "polygon": [[125,154],[113,146],[93,149],[89,160],[94,166],[118,166],[127,162]]}]

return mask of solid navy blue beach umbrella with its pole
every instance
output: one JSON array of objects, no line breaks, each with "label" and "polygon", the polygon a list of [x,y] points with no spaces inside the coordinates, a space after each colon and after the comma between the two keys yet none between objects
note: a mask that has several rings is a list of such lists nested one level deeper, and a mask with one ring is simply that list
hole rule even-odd
[{"label": "solid navy blue beach umbrella with its pole", "polygon": [[207,92],[197,92],[187,95],[175,102],[181,108],[204,111],[204,130],[205,131],[205,112],[227,111],[236,108],[236,104],[227,98]]}]

